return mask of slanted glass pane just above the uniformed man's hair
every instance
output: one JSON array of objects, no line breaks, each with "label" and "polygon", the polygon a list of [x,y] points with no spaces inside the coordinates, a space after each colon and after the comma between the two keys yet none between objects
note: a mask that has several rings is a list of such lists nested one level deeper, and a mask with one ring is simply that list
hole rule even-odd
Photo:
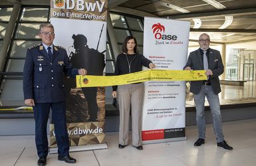
[{"label": "slanted glass pane just above the uniformed man's hair", "polygon": [[21,21],[48,21],[48,8],[23,8],[23,13],[21,14]]}]

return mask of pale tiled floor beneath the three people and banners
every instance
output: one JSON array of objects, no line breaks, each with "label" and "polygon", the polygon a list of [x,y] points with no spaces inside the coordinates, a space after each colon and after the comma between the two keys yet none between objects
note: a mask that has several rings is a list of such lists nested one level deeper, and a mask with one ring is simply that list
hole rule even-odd
[{"label": "pale tiled floor beneath the three people and banners", "polygon": [[[217,147],[212,124],[207,124],[207,138],[201,147],[194,147],[197,139],[195,126],[186,127],[186,141],[144,145],[143,151],[129,145],[118,149],[118,133],[106,133],[108,149],[72,152],[77,159],[74,165],[111,166],[247,166],[256,165],[256,119],[223,123],[225,139],[233,151]],[[1,136],[0,165],[37,165],[33,135]],[[72,165],[57,160],[57,154],[47,157],[47,165]]]}]

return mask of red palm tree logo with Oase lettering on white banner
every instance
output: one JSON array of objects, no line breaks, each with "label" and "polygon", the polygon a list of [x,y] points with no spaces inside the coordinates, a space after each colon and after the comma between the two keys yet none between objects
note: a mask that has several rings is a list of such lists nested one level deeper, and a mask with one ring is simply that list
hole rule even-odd
[{"label": "red palm tree logo with Oase lettering on white banner", "polygon": [[176,41],[177,36],[176,35],[166,35],[164,34],[164,31],[166,31],[166,28],[164,25],[161,25],[160,23],[154,24],[152,26],[152,31],[155,36],[155,39],[162,39],[162,40],[169,40],[169,41]]}]

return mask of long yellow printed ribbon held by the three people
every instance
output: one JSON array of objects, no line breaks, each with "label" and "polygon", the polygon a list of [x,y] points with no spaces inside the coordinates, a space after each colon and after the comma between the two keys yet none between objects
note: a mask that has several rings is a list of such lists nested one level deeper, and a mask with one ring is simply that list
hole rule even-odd
[{"label": "long yellow printed ribbon held by the three people", "polygon": [[114,86],[145,81],[206,80],[205,70],[144,70],[119,76],[76,76],[76,87]]}]

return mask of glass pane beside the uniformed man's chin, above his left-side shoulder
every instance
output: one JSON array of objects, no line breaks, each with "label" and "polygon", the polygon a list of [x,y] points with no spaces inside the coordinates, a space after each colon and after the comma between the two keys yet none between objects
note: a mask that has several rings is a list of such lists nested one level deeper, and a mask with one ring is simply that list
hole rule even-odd
[{"label": "glass pane beside the uniformed man's chin, above his left-side shoulder", "polygon": [[39,44],[41,41],[13,41],[13,47],[11,49],[11,57],[26,57],[27,48],[35,44]]}]

